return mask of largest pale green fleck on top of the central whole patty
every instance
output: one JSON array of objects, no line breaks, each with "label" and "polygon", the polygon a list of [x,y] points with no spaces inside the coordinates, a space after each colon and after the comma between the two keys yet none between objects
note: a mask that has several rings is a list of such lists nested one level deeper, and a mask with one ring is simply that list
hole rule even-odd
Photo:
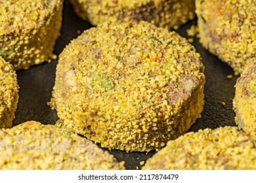
[{"label": "largest pale green fleck on top of the central whole patty", "polygon": [[93,75],[88,78],[88,87],[97,92],[107,92],[114,88],[114,83],[107,76]]}]

